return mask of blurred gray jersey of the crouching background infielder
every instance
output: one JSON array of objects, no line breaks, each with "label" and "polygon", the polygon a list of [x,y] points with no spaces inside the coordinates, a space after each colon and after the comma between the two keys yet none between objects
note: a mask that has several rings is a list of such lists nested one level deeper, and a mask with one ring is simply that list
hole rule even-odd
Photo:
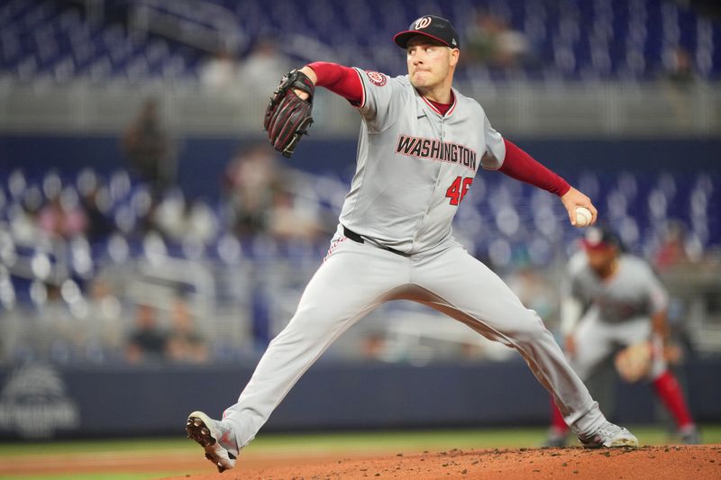
[{"label": "blurred gray jersey of the crouching background infielder", "polygon": [[585,305],[598,308],[598,318],[603,322],[648,318],[665,310],[669,301],[651,267],[632,255],[621,255],[616,274],[607,280],[589,267],[585,254],[572,258],[567,289]]}]

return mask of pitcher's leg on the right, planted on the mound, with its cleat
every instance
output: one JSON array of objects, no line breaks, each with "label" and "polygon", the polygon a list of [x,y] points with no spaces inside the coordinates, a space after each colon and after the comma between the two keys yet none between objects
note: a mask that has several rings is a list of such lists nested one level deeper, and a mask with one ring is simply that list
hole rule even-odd
[{"label": "pitcher's leg on the right, planted on the mound, with its cleat", "polygon": [[[434,257],[416,258],[411,281],[435,297],[428,304],[436,310],[468,324],[490,340],[517,349],[585,445],[616,446],[616,440],[607,440],[625,437],[627,431],[619,434],[614,430],[605,432],[607,438],[600,442],[595,439],[607,425],[616,426],[608,424],[538,314],[526,309],[495,273],[464,249],[451,248]],[[629,433],[628,437],[620,441],[637,444],[633,435]]]}]

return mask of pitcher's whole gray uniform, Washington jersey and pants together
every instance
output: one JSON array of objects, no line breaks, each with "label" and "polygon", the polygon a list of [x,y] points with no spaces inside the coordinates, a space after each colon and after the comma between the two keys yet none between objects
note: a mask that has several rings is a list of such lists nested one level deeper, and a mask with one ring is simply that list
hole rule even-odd
[{"label": "pitcher's whole gray uniform, Washington jersey and pants together", "polygon": [[571,429],[589,435],[606,420],[551,332],[452,239],[453,215],[478,168],[502,165],[503,139],[480,105],[456,90],[442,115],[407,77],[356,72],[364,90],[358,168],[328,255],[238,403],[224,412],[238,446],[333,340],[393,299],[424,303],[517,349]]}]

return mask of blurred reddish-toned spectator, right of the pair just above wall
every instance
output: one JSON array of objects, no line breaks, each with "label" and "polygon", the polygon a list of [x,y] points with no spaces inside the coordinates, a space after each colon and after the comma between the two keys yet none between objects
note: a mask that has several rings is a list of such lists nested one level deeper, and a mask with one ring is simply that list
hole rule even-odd
[{"label": "blurred reddish-toned spectator, right of the pair just above wall", "polygon": [[168,357],[176,362],[206,363],[207,343],[193,325],[187,302],[178,297],[172,306],[173,330],[168,340]]}]

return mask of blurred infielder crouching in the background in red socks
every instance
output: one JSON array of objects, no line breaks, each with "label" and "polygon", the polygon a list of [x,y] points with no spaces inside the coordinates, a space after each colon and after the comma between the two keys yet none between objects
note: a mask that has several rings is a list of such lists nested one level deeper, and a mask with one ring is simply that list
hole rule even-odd
[{"label": "blurred infielder crouching in the background in red socks", "polygon": [[[607,227],[591,227],[583,251],[571,257],[563,285],[561,331],[570,365],[584,381],[619,349],[616,368],[625,381],[645,380],[671,412],[685,443],[698,430],[679,383],[669,370],[668,293],[643,258],[626,254]],[[555,407],[546,445],[565,445],[568,427]]]}]

